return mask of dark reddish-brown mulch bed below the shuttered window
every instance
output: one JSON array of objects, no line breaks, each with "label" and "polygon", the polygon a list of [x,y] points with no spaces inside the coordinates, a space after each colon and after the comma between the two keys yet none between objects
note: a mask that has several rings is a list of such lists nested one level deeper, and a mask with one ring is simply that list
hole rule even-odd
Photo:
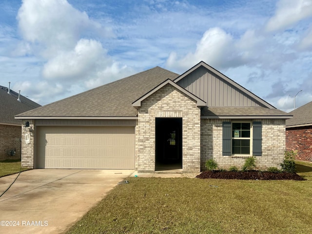
[{"label": "dark reddish-brown mulch bed below the shuttered window", "polygon": [[253,179],[253,180],[305,180],[296,173],[273,173],[260,171],[228,172],[228,171],[206,171],[196,178],[200,179]]}]

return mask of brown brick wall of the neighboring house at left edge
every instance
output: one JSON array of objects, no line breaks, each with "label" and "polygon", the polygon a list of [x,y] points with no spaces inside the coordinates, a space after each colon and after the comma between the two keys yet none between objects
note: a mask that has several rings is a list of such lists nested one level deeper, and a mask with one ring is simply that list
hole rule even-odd
[{"label": "brown brick wall of the neighboring house at left edge", "polygon": [[[20,158],[21,126],[0,124],[0,160]],[[10,151],[15,150],[11,156]]]}]

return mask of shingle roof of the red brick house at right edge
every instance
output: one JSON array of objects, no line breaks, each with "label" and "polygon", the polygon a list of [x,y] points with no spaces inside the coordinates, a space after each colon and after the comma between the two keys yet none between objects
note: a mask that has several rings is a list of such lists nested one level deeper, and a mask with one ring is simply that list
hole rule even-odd
[{"label": "shingle roof of the red brick house at right edge", "polygon": [[312,125],[312,101],[289,113],[292,119],[286,120],[286,127],[301,127]]}]

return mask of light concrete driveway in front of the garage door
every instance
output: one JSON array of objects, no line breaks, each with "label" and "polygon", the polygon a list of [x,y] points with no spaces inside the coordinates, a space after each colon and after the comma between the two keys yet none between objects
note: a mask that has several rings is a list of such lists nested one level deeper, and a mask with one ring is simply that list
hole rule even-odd
[{"label": "light concrete driveway in front of the garage door", "polygon": [[[0,197],[0,233],[63,233],[133,172],[75,169],[22,172]],[[0,194],[16,176],[0,178]]]}]

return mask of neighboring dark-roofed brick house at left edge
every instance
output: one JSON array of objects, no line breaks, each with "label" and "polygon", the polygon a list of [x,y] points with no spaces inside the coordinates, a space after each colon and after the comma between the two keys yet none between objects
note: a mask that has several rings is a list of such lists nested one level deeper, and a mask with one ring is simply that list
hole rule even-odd
[{"label": "neighboring dark-roofed brick house at left edge", "polygon": [[0,86],[0,160],[20,158],[22,120],[14,116],[37,107],[38,103]]}]

